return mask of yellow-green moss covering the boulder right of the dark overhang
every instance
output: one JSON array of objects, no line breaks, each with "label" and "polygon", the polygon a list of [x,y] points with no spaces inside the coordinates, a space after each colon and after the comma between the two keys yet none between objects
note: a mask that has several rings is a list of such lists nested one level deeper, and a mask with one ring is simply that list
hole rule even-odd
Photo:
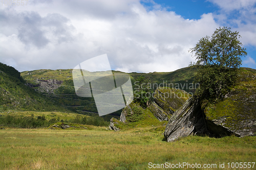
[{"label": "yellow-green moss covering the boulder right of the dark overhang", "polygon": [[[224,126],[240,130],[248,120],[256,121],[256,70],[245,68],[236,86],[231,87],[228,98],[208,104],[205,108],[207,118],[219,119],[226,116]],[[254,125],[256,127],[256,125]]]}]

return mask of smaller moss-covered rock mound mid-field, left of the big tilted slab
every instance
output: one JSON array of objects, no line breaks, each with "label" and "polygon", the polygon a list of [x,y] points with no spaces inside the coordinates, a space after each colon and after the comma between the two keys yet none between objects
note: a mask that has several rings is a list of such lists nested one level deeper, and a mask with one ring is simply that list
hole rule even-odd
[{"label": "smaller moss-covered rock mound mid-field, left of the big tilted slab", "polygon": [[[132,102],[121,113],[120,120],[111,119],[111,129],[129,129],[134,127],[161,126],[163,130],[166,120],[179,109],[190,95],[180,89],[158,87],[155,90],[153,101],[144,108],[140,103]],[[160,130],[159,129],[159,130]]]}]

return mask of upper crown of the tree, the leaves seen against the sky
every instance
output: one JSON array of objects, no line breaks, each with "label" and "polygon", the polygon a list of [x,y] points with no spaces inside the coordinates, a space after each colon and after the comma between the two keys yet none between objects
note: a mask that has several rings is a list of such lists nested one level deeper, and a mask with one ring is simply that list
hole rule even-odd
[{"label": "upper crown of the tree, the leaves seen against the sky", "polygon": [[211,37],[201,38],[191,53],[195,53],[196,65],[218,65],[229,68],[239,68],[241,57],[246,56],[245,48],[238,38],[239,32],[232,32],[230,28],[216,29]]}]

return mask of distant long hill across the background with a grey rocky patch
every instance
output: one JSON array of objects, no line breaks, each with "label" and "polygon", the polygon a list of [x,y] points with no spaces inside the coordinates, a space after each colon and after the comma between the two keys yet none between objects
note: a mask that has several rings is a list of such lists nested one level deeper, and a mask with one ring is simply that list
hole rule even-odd
[{"label": "distant long hill across the background with a grey rocky patch", "polygon": [[[131,76],[133,87],[136,87],[134,85],[136,79],[144,76],[150,79],[154,90],[158,86],[170,86],[187,92],[194,92],[195,89],[189,89],[187,84],[193,82],[195,71],[195,68],[185,67],[172,72],[150,72],[147,74],[131,72],[129,75]],[[50,96],[72,111],[87,115],[95,115],[97,113],[93,98],[81,98],[75,94],[72,69],[40,69],[23,71],[21,75],[30,87]],[[110,120],[111,117],[120,116],[121,111],[122,109],[103,117],[108,117],[105,120]]]}]

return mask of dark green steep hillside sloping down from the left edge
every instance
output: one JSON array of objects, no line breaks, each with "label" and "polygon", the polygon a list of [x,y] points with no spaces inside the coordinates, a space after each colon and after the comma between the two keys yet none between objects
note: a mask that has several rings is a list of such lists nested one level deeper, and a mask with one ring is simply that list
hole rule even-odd
[{"label": "dark green steep hillside sloping down from the left edge", "polygon": [[6,110],[70,112],[48,96],[26,86],[15,68],[0,63],[0,111]]}]

